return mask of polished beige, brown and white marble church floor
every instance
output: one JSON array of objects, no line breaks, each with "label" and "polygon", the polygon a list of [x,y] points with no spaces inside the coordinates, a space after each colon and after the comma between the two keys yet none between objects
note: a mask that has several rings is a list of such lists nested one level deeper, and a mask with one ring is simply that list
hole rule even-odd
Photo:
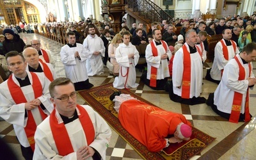
[{"label": "polished beige, brown and white marble church floor", "polygon": [[[56,61],[56,72],[59,77],[65,77],[65,70],[60,61],[60,49],[63,44],[54,42],[36,34],[21,33],[20,37],[26,44],[30,44],[32,39],[38,39],[41,42],[42,49],[49,49]],[[256,67],[256,63],[253,62]],[[205,63],[204,76],[206,69],[211,67],[211,63]],[[253,68],[256,74],[256,68]],[[140,95],[153,104],[177,113],[182,113],[197,129],[215,137],[216,140],[206,147],[200,154],[191,159],[255,159],[256,152],[253,151],[256,144],[256,92],[250,92],[250,113],[253,115],[251,122],[233,124],[216,115],[211,107],[206,104],[199,104],[189,106],[186,104],[179,104],[170,100],[167,92],[154,91],[140,81],[141,72],[137,70],[137,83],[140,85],[133,88],[132,92]],[[105,83],[113,82],[113,76],[109,76],[108,68],[105,67],[104,74],[100,76],[89,77],[90,83],[94,86],[99,86]],[[203,80],[202,96],[207,99],[209,93],[214,92],[217,84]],[[78,104],[84,104],[84,100],[79,97]],[[9,145],[15,150],[19,159],[23,159],[19,142],[15,138],[15,132],[12,125],[7,122],[0,122],[0,137],[8,141]],[[0,151],[1,152],[1,151]],[[2,159],[3,157],[1,157]],[[128,145],[118,134],[112,130],[112,138],[106,152],[106,159],[142,159],[130,145]]]}]

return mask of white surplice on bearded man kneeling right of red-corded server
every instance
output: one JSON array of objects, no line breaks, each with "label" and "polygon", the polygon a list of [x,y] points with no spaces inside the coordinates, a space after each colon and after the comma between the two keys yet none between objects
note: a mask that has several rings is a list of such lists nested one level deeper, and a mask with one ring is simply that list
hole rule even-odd
[{"label": "white surplice on bearded man kneeling right of red-corded server", "polygon": [[[163,41],[164,42],[164,41]],[[163,44],[156,45],[156,42],[153,40],[155,47],[157,48],[157,56],[153,56],[151,44],[147,45],[146,48],[146,60],[147,60],[147,79],[150,79],[151,67],[157,68],[157,77],[156,79],[164,79],[165,77],[170,77],[169,72],[169,61],[167,59],[161,60],[162,54],[168,54],[169,60],[172,58],[172,52],[170,51],[168,44],[166,44],[167,51],[165,51]]]}]

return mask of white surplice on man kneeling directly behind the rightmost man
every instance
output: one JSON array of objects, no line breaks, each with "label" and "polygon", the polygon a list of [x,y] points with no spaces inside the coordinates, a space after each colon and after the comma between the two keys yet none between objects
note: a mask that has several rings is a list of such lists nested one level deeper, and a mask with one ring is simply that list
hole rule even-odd
[{"label": "white surplice on man kneeling directly behind the rightmost man", "polygon": [[[222,40],[226,45],[225,40],[224,39]],[[234,52],[233,45],[229,45],[227,46],[227,48],[228,48],[228,60],[224,58],[223,47],[221,42],[218,42],[214,48],[214,61],[212,63],[212,69],[210,72],[211,77],[214,80],[217,80],[217,81],[221,80],[221,70],[225,67],[225,65],[227,65],[229,60],[234,58],[234,56],[239,53],[239,50],[237,49],[237,45],[236,45],[236,52]]]}]

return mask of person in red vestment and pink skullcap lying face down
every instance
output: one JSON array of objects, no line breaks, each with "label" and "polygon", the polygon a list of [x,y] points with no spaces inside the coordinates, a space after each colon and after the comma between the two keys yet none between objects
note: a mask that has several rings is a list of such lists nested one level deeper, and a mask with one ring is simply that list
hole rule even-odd
[{"label": "person in red vestment and pink skullcap lying face down", "polygon": [[179,113],[150,106],[120,92],[114,92],[110,99],[115,102],[114,108],[124,129],[150,152],[159,152],[172,143],[187,141],[192,134],[191,123]]}]

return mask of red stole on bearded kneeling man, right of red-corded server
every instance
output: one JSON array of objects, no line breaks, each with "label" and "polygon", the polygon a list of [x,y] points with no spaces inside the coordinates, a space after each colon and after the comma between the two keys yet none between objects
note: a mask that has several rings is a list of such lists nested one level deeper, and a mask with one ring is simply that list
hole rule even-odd
[{"label": "red stole on bearded kneeling man, right of red-corded server", "polygon": [[[162,45],[163,45],[165,51],[167,52],[167,45],[164,43],[163,40],[161,40],[161,43],[162,43]],[[150,43],[150,45],[151,45],[151,48],[152,48],[152,54],[153,54],[153,56],[158,56],[158,54],[157,54],[157,48],[156,48],[156,46],[154,45],[154,42],[152,41],[152,42]],[[149,84],[149,86],[156,87],[156,79],[157,79],[157,68],[151,66],[151,74],[150,74],[150,84]]]}]

